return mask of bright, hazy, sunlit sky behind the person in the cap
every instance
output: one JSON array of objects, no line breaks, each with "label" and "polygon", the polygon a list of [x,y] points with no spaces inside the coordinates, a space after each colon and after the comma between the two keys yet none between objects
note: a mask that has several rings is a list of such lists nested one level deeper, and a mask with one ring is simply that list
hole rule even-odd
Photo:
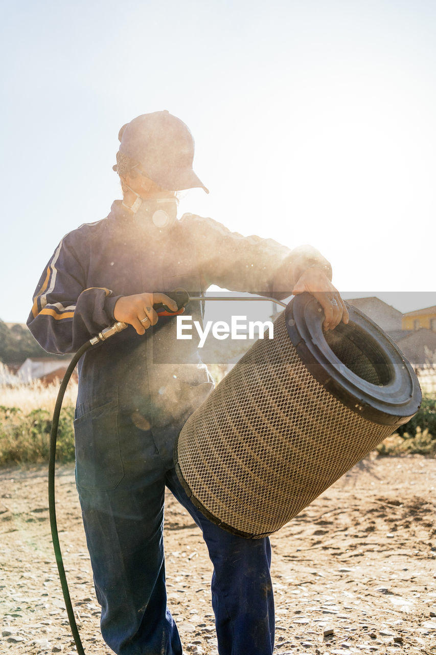
[{"label": "bright, hazy, sunlit sky behind the person in the cap", "polygon": [[210,190],[181,213],[312,244],[344,297],[436,305],[433,1],[16,0],[0,55],[1,320],[121,197],[118,130],[159,109]]}]

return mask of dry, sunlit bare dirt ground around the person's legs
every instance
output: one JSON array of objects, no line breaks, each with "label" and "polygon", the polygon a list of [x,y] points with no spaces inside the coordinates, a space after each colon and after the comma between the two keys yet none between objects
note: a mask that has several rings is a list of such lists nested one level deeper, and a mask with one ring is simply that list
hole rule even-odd
[{"label": "dry, sunlit bare dirt ground around the person's legs", "polygon": [[[278,655],[436,653],[435,488],[435,459],[365,460],[272,535]],[[56,500],[84,650],[110,655],[73,466],[58,468]],[[52,550],[44,466],[0,470],[0,532],[0,652],[77,652]],[[164,538],[168,601],[185,652],[217,655],[211,564],[191,517],[170,495]]]}]

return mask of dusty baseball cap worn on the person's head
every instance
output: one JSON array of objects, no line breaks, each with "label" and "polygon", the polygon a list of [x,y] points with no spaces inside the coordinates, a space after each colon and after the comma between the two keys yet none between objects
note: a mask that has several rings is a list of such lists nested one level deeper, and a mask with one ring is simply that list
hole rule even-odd
[{"label": "dusty baseball cap worn on the person's head", "polygon": [[122,126],[120,148],[114,170],[120,172],[120,155],[138,162],[141,173],[162,189],[181,191],[201,187],[209,193],[192,169],[194,138],[189,127],[169,111],[142,114]]}]

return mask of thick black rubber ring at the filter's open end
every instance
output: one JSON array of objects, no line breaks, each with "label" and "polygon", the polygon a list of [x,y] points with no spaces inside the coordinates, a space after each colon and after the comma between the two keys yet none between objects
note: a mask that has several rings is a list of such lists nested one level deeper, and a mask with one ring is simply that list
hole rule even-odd
[{"label": "thick black rubber ring at the filter's open end", "polygon": [[360,310],[345,303],[348,325],[334,330],[336,339],[355,344],[379,371],[374,384],[357,375],[333,352],[324,333],[323,310],[310,293],[296,295],[285,309],[289,339],[314,378],[355,413],[380,425],[399,426],[416,414],[422,394],[412,366],[380,326]]}]

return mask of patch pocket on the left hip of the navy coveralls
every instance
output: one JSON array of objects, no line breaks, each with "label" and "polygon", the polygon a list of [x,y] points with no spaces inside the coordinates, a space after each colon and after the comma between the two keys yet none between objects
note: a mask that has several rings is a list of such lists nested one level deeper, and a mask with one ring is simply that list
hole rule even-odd
[{"label": "patch pocket on the left hip of the navy coveralls", "polygon": [[77,486],[110,491],[124,477],[118,440],[118,399],[74,421]]}]

